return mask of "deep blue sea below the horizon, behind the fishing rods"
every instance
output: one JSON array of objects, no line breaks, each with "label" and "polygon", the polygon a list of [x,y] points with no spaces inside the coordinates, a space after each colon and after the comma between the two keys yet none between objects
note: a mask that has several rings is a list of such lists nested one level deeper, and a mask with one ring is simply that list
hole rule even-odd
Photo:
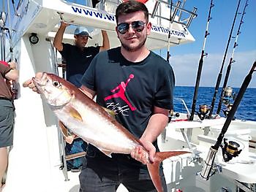
[{"label": "deep blue sea below the horizon, behind the fishing rods", "polygon": [[[179,99],[183,99],[189,108],[189,112],[191,112],[192,101],[194,96],[194,87],[188,86],[176,86],[174,91],[174,110],[175,112],[185,112],[187,113],[186,108]],[[233,88],[234,93],[238,93],[239,88]],[[221,88],[217,93],[217,99],[215,100],[214,105],[214,112],[213,115],[216,114],[217,107],[219,104],[219,94],[221,93]],[[243,98],[236,110],[235,117],[241,120],[256,120],[256,88],[247,88],[246,92],[244,93]],[[197,93],[197,103],[196,103],[196,111],[199,110],[200,104],[207,104],[208,106],[211,105],[212,97],[214,96],[214,88],[212,87],[200,87],[198,88]],[[233,100],[230,101],[233,103]],[[225,105],[222,104],[222,110],[225,110]],[[195,113],[196,115],[196,113]],[[225,116],[224,113],[221,111],[221,116]]]}]

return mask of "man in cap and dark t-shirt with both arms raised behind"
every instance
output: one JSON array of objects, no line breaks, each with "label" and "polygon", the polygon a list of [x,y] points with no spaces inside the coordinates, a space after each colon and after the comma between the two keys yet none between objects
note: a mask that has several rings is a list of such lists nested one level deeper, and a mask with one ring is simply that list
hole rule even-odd
[{"label": "man in cap and dark t-shirt with both arms raised behind", "polygon": [[86,69],[89,67],[91,60],[100,51],[108,50],[110,43],[107,32],[102,30],[102,46],[86,47],[88,40],[92,38],[89,36],[87,28],[81,26],[75,29],[75,45],[63,43],[63,35],[67,26],[69,26],[68,23],[61,21],[61,26],[56,33],[53,45],[59,50],[59,53],[61,53],[61,56],[66,61],[67,80],[80,88],[80,80],[83,77],[84,72],[86,72]]}]

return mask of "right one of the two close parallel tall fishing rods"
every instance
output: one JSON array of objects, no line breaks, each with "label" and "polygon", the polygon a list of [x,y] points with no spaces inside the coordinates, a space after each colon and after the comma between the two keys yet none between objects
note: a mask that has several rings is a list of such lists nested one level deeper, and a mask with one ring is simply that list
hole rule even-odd
[{"label": "right one of the two close parallel tall fishing rods", "polygon": [[233,60],[233,56],[234,56],[236,47],[238,46],[238,44],[237,44],[238,36],[239,36],[239,34],[241,34],[240,28],[241,28],[241,25],[244,23],[243,19],[244,19],[244,15],[246,14],[245,9],[246,9],[247,6],[248,6],[248,0],[246,0],[245,5],[244,5],[244,10],[243,10],[241,20],[240,20],[240,23],[239,23],[239,26],[238,26],[238,31],[236,33],[236,40],[235,40],[234,45],[233,45],[232,55],[230,57],[230,62],[227,66],[227,71],[226,71],[226,74],[225,74],[225,80],[224,80],[223,85],[222,85],[222,92],[221,92],[220,97],[219,97],[219,104],[218,104],[218,108],[217,108],[217,112],[216,112],[217,115],[219,115],[219,112],[222,109],[222,99],[224,98],[224,95],[225,95],[225,88],[227,86],[227,80],[228,80],[228,77],[230,75],[231,64],[236,62],[235,60]]}]

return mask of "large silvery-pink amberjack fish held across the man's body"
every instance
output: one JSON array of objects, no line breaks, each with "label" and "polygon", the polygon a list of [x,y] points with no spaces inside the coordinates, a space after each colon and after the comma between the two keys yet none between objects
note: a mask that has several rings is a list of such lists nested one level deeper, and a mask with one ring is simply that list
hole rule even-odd
[{"label": "large silvery-pink amberjack fish held across the man's body", "polygon": [[[111,157],[111,153],[130,154],[136,146],[143,146],[139,139],[70,82],[48,73],[43,73],[41,78],[34,77],[32,80],[57,118],[78,137],[91,143],[105,155]],[[148,155],[145,147],[143,150]],[[148,160],[148,172],[157,191],[163,191],[159,164],[165,158],[184,153],[189,152],[157,152],[154,163]]]}]

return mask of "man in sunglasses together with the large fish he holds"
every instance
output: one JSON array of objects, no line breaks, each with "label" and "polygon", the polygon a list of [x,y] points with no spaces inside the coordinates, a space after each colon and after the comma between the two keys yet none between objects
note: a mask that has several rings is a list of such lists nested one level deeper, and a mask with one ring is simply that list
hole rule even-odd
[{"label": "man in sunglasses together with the large fish he holds", "polygon": [[80,192],[116,191],[120,183],[128,191],[167,191],[161,162],[187,153],[157,146],[173,109],[173,69],[146,48],[151,23],[144,4],[119,4],[116,23],[121,47],[91,61],[81,81],[86,95],[54,74],[37,73],[23,86],[41,93],[65,126],[89,142]]}]

